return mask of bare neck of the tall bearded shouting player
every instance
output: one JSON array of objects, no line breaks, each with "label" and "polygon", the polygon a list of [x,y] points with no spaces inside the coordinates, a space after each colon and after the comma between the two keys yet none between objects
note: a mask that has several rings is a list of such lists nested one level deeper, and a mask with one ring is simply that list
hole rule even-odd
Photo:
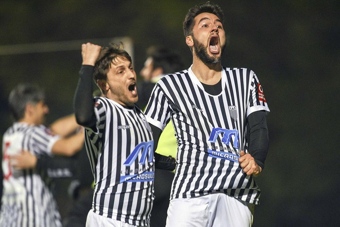
[{"label": "bare neck of the tall bearded shouting player", "polygon": [[215,85],[221,80],[221,62],[206,65],[201,60],[194,58],[191,70],[197,79],[206,85]]}]

